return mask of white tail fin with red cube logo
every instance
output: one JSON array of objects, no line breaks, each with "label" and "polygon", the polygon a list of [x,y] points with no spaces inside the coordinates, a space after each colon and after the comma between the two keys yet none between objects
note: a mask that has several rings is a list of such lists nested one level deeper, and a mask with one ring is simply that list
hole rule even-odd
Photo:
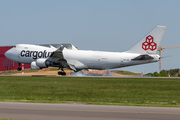
[{"label": "white tail fin with red cube logo", "polygon": [[136,43],[129,53],[155,54],[166,30],[166,26],[157,26],[143,39]]}]

